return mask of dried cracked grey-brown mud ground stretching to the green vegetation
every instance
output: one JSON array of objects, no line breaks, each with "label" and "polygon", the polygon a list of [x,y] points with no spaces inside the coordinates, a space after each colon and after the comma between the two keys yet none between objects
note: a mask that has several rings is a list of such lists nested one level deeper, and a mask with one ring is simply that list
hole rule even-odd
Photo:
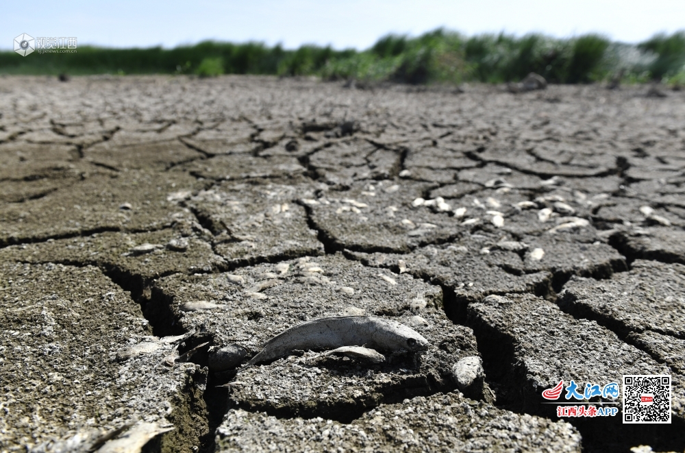
[{"label": "dried cracked grey-brown mud ground stretching to the green vegetation", "polygon": [[[0,452],[684,450],[685,93],[463,91],[0,78]],[[322,317],[428,345],[245,366]]]}]

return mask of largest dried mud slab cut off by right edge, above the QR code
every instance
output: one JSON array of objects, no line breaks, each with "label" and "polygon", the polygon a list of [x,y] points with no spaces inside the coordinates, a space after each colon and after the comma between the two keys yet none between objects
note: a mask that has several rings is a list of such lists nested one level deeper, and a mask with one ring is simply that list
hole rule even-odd
[{"label": "largest dried mud slab cut off by right edge, above the QR code", "polygon": [[597,319],[612,330],[652,330],[685,336],[685,266],[636,260],[629,272],[608,280],[574,278],[562,303],[573,313]]}]

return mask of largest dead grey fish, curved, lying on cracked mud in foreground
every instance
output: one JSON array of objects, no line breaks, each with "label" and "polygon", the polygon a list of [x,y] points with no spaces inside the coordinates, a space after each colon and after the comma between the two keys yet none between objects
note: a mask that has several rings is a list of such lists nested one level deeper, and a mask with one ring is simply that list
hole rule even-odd
[{"label": "largest dead grey fish, curved, lying on cracked mud in foreground", "polygon": [[426,350],[428,341],[419,332],[397,321],[371,316],[328,317],[301,323],[274,336],[246,367],[286,356],[293,350],[359,345],[378,350],[414,352]]}]

